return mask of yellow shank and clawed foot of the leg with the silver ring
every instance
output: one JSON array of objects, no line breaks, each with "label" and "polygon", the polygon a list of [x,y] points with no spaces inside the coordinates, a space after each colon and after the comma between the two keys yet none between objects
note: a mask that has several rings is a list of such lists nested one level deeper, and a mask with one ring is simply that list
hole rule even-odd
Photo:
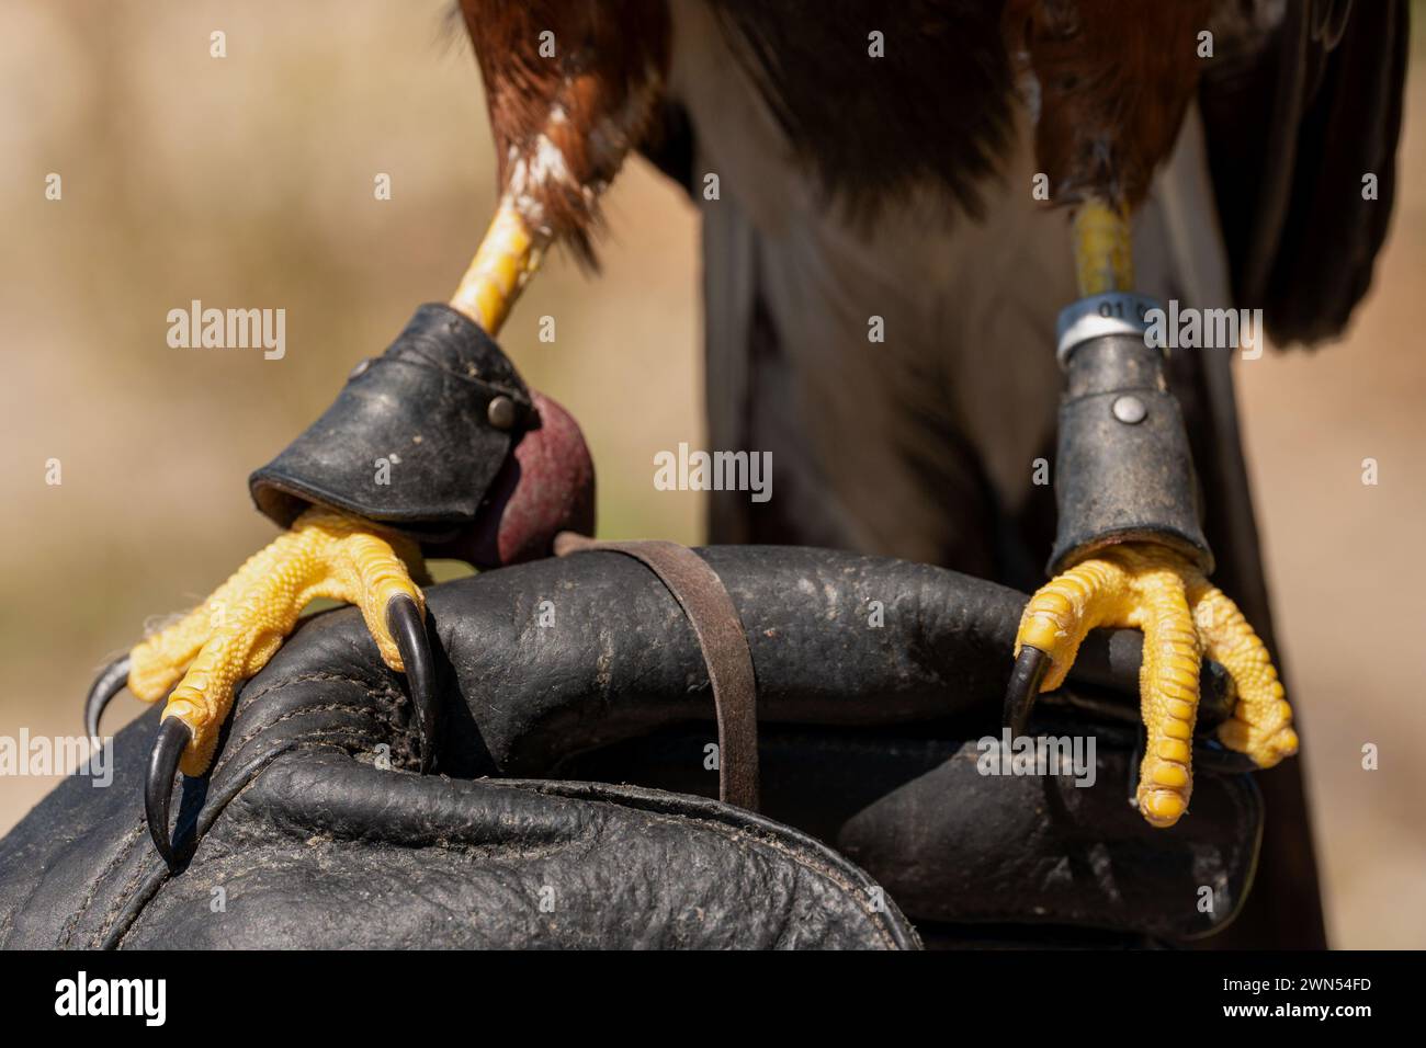
[{"label": "yellow shank and clawed foot of the leg with the silver ring", "polygon": [[[1091,198],[1075,212],[1072,228],[1081,294],[1091,298],[1131,291],[1128,210]],[[1075,352],[1082,349],[1071,348],[1071,361]],[[1079,391],[1085,401],[1094,392]],[[1129,398],[1108,399],[1114,399],[1118,416],[1118,402]],[[1145,411],[1165,408],[1176,421],[1176,405],[1165,391],[1142,391],[1134,399],[1134,411],[1119,418],[1127,426],[1139,425]],[[1178,426],[1181,431],[1182,423]],[[1061,466],[1064,458],[1061,452]],[[1061,523],[1064,513],[1061,506]],[[1031,597],[1020,622],[1005,711],[1012,730],[1024,731],[1034,696],[1064,683],[1091,629],[1141,629],[1139,693],[1148,741],[1137,804],[1148,823],[1166,827],[1188,810],[1192,794],[1192,737],[1204,654],[1219,662],[1236,686],[1233,713],[1218,729],[1225,746],[1246,753],[1259,767],[1272,767],[1296,753],[1298,736],[1266,647],[1236,605],[1208,582],[1194,543],[1185,543],[1181,533],[1144,535],[1152,530],[1139,526],[1134,533],[1105,535],[1057,555],[1058,575]]]}]

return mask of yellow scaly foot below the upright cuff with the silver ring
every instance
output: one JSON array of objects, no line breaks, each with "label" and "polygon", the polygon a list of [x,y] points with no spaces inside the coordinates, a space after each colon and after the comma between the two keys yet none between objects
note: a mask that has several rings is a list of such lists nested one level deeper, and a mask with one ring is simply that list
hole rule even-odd
[{"label": "yellow scaly foot below the upright cuff with the silver ring", "polygon": [[[1298,751],[1292,707],[1268,649],[1236,605],[1179,553],[1154,543],[1111,546],[1041,587],[1021,616],[1015,656],[1037,649],[1048,666],[1042,677],[1030,679],[1017,664],[1017,680],[1024,679],[1031,694],[1037,686],[1040,692],[1060,687],[1085,635],[1099,626],[1144,630],[1139,694],[1148,746],[1138,806],[1154,826],[1172,826],[1188,810],[1205,652],[1228,670],[1238,690],[1232,717],[1218,729],[1224,744],[1259,767]],[[1034,662],[1034,652],[1030,656]]]}]

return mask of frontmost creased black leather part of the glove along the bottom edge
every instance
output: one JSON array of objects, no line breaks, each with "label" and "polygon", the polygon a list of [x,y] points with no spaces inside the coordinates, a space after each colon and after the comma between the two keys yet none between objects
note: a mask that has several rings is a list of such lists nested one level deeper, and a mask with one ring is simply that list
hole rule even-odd
[{"label": "frontmost creased black leather part of the glove along the bottom edge", "polygon": [[847,860],[717,801],[422,779],[295,740],[245,787],[214,776],[211,826],[170,877],[137,800],[154,727],[121,733],[110,788],[70,779],[0,843],[6,947],[917,945]]}]

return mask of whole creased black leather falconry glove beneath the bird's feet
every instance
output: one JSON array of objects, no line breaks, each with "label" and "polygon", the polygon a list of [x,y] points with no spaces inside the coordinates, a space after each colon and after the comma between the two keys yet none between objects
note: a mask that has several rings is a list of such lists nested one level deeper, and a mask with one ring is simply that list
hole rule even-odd
[{"label": "whole creased black leather falconry glove beneath the bird's feet", "polygon": [[1201,771],[1189,817],[1152,830],[1125,800],[1132,734],[1050,704],[1040,727],[1095,733],[1094,787],[975,771],[1021,595],[829,550],[702,555],[757,667],[764,817],[689,796],[717,788],[692,629],[645,567],[583,553],[428,589],[438,776],[402,770],[409,702],[359,616],[307,622],[244,687],[211,779],[184,780],[198,844],[175,877],[143,826],[154,717],[127,729],[110,788],[71,779],[0,841],[0,942],[914,945],[897,904],[1182,938],[1241,903],[1246,776]]}]

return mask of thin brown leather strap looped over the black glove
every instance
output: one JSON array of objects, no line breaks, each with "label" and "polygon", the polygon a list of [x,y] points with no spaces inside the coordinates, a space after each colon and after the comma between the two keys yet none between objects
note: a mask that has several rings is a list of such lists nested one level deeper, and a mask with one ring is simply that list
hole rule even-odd
[{"label": "thin brown leather strap looped over the black glove", "polygon": [[555,555],[606,549],[632,556],[669,589],[693,626],[713,686],[717,713],[719,800],[757,810],[757,679],[743,620],[723,580],[697,553],[676,542],[596,542],[560,532]]}]

